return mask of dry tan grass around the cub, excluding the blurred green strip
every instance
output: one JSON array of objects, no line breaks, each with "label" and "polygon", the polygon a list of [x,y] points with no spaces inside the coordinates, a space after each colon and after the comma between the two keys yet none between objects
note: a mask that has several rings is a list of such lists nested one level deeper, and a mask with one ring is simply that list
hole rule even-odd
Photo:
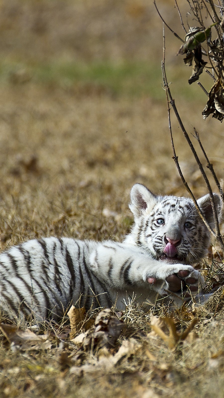
[{"label": "dry tan grass around the cub, excluding the blurred green strip", "polygon": [[[21,48],[26,62],[39,63],[51,62],[57,57],[70,59],[74,57],[72,51],[82,62],[97,58],[125,62],[132,54],[137,60],[149,61],[152,48],[156,49],[155,59],[161,50],[158,30],[155,30],[160,28],[160,22],[148,2],[138,2],[138,7],[125,2],[126,23],[120,16],[122,2],[119,1],[105,2],[102,8],[101,2],[94,2],[93,14],[92,2],[85,2],[85,7],[82,2],[66,2],[67,7],[63,9],[62,2],[55,2],[55,8],[47,1],[37,2],[35,6],[27,1],[21,4],[2,2],[0,52],[7,62],[20,61]],[[161,4],[166,12],[169,3]],[[39,14],[32,7],[39,10]],[[28,21],[36,24],[30,22],[22,29],[24,10]],[[73,23],[75,18],[77,25]],[[171,16],[169,19],[174,21]],[[46,22],[49,20],[51,23]],[[64,25],[61,20],[65,21]],[[88,29],[84,36],[78,36],[83,21],[90,20],[95,23],[95,29],[98,27],[98,30],[92,28],[96,32],[92,42],[89,41],[89,22],[86,22]],[[109,27],[105,20],[111,21]],[[47,25],[41,25],[41,21]],[[150,46],[149,41],[145,44],[150,36],[147,24],[152,29],[151,37],[156,38]],[[65,25],[67,30],[63,30]],[[119,34],[112,37],[114,31]],[[64,41],[62,33],[67,35]],[[112,51],[108,51],[110,45]],[[177,61],[169,57],[170,65],[172,62],[175,65]],[[10,79],[10,73],[0,86],[2,250],[7,245],[40,236],[122,240],[132,222],[128,200],[130,188],[136,182],[144,183],[155,192],[186,194],[171,158],[165,101],[141,93],[131,98],[119,92],[115,96],[96,82],[63,86],[47,80],[45,84],[37,84],[32,79]],[[185,82],[179,80],[177,84],[177,92],[180,91],[177,106],[184,124],[191,132],[192,126],[196,127],[218,177],[223,178],[222,125],[213,119],[203,122],[200,116],[203,104],[196,99],[183,100],[181,90],[185,90]],[[162,90],[160,85],[156,87]],[[173,123],[184,174],[194,193],[203,195],[206,188],[200,173],[176,121]],[[209,276],[215,273],[213,266]],[[164,311],[162,308],[154,314],[164,315]],[[199,321],[195,328],[197,335],[192,334],[173,350],[158,336],[149,334],[150,315],[132,307],[126,314],[120,314],[133,330],[129,335],[120,336],[116,347],[101,351],[97,347],[84,351],[71,343],[66,324],[57,331],[57,338],[55,328],[46,326],[51,331],[52,343],[52,348],[47,350],[17,350],[2,338],[0,395],[4,398],[171,398],[175,395],[222,398],[222,291],[203,310],[183,309],[175,314],[178,330],[186,328],[195,317]],[[129,344],[127,354],[111,367],[110,355],[114,355],[124,341]]]}]

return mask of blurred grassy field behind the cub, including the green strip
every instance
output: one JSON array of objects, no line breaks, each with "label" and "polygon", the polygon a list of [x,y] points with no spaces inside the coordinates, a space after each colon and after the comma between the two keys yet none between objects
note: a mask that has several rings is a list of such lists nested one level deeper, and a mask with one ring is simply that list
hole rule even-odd
[{"label": "blurred grassy field behind the cub, including the green strip", "polygon": [[[184,39],[175,2],[157,6]],[[179,6],[186,21],[188,3]],[[192,70],[176,55],[181,42],[165,35],[179,113],[223,178],[222,125],[202,119],[206,95],[188,84]],[[172,160],[162,57],[162,22],[149,0],[0,1],[1,248],[52,234],[120,239],[136,182],[186,195]],[[203,195],[173,116],[172,123],[183,173]]]}]

